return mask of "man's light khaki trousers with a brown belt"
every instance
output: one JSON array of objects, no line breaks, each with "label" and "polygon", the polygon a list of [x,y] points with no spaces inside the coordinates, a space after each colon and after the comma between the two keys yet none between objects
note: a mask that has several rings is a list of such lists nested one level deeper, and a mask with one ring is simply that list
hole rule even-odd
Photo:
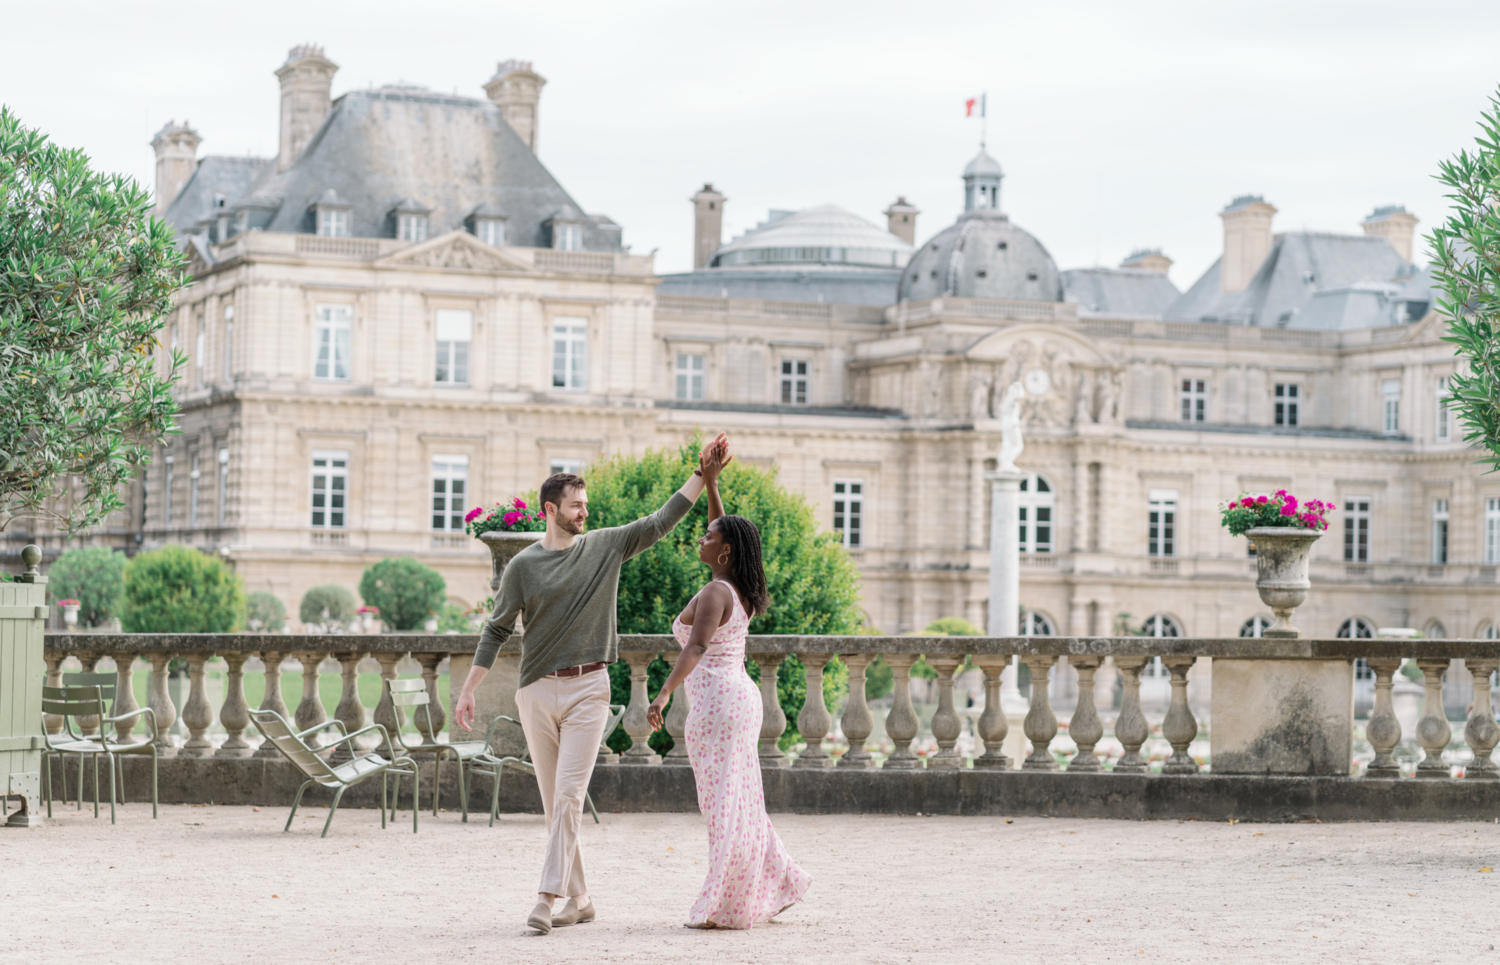
[{"label": "man's light khaki trousers with a brown belt", "polygon": [[562,897],[586,894],[578,834],[588,779],[609,722],[609,671],[543,677],[516,690],[516,710],[537,768],[548,822],[548,854],[537,891]]}]

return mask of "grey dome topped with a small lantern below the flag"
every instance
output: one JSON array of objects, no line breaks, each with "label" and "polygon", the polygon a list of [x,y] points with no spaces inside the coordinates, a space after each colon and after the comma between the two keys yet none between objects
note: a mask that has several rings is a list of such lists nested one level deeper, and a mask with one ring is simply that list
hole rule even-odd
[{"label": "grey dome topped with a small lantern below the flag", "polygon": [[963,170],[963,215],[906,263],[897,300],[1012,299],[1062,302],[1062,273],[1047,249],[1000,212],[1000,164],[982,149]]}]

